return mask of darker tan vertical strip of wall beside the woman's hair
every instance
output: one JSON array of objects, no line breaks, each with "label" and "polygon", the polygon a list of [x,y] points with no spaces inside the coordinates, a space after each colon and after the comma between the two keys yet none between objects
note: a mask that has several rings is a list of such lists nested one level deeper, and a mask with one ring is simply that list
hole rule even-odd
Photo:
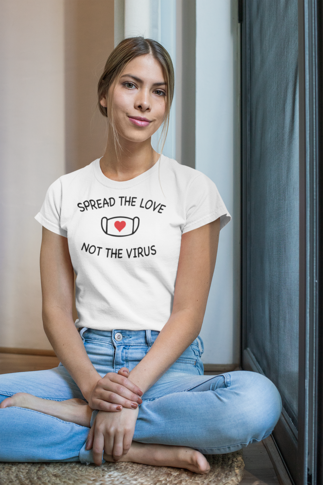
[{"label": "darker tan vertical strip of wall beside the woman's hair", "polygon": [[66,172],[104,154],[97,83],[114,47],[114,0],[65,0]]}]

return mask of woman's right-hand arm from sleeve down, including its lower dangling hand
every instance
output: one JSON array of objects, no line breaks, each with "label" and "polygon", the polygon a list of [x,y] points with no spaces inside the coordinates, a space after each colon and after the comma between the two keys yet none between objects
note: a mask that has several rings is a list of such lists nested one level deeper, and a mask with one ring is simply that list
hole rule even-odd
[{"label": "woman's right-hand arm from sleeve down, including its lower dangling hand", "polygon": [[[161,377],[197,338],[215,267],[220,219],[182,236],[173,309],[152,348],[130,372],[129,379],[144,392]],[[99,412],[88,436],[87,449],[101,464],[103,450],[118,460],[129,451],[138,409],[118,414]]]}]

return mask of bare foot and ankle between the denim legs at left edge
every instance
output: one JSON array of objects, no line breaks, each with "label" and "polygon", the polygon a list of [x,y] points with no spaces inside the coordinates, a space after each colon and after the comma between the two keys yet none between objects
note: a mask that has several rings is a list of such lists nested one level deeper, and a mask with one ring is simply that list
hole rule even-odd
[{"label": "bare foot and ankle between the denim legs at left edge", "polygon": [[50,399],[42,399],[25,392],[17,392],[17,394],[4,399],[0,404],[0,409],[11,406],[26,407],[27,409],[55,416],[63,421],[73,422],[87,428],[91,427],[92,409],[82,399],[51,401]]}]

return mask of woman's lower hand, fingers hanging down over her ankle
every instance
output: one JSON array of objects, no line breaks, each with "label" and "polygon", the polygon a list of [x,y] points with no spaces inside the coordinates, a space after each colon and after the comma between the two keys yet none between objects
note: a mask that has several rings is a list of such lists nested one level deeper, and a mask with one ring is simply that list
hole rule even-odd
[{"label": "woman's lower hand, fingers hanging down over her ankle", "polygon": [[135,432],[139,409],[126,409],[120,413],[99,411],[88,435],[86,450],[93,448],[95,465],[101,465],[103,451],[119,460],[128,453]]}]

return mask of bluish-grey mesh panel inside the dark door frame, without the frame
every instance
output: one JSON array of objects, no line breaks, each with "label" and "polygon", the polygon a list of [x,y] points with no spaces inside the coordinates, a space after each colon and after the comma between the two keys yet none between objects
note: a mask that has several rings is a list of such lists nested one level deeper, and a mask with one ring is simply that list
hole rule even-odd
[{"label": "bluish-grey mesh panel inside the dark door frame, without the frame", "polygon": [[297,428],[297,1],[248,0],[246,12],[246,347],[276,384]]}]

